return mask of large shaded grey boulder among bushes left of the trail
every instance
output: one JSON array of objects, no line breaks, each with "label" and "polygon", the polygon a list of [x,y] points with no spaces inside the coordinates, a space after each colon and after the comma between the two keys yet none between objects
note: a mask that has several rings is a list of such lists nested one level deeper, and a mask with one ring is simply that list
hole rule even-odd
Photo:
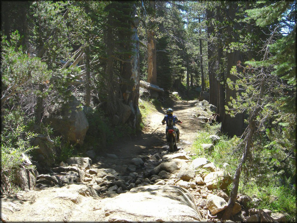
[{"label": "large shaded grey boulder among bushes left of the trail", "polygon": [[81,102],[73,95],[66,101],[60,100],[45,112],[45,123],[50,123],[54,131],[66,140],[83,144],[89,123],[81,109]]}]

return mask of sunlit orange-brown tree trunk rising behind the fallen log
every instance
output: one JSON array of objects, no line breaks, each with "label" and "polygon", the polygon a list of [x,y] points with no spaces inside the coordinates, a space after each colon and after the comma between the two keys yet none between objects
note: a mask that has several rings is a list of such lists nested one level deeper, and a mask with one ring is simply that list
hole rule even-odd
[{"label": "sunlit orange-brown tree trunk rising behind the fallen log", "polygon": [[[156,10],[155,1],[149,1],[151,7]],[[156,39],[154,31],[148,30],[148,82],[157,84],[157,52],[156,52]]]}]

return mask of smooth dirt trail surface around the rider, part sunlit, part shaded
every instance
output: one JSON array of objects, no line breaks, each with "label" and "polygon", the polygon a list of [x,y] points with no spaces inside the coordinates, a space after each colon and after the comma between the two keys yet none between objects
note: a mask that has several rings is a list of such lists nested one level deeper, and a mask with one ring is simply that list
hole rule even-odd
[{"label": "smooth dirt trail surface around the rider, part sunlit, part shaded", "polygon": [[[189,147],[197,131],[200,129],[200,123],[197,118],[195,119],[193,117],[193,114],[197,113],[197,107],[195,107],[195,103],[197,102],[198,100],[178,101],[172,106],[173,114],[183,122],[177,125],[180,130],[181,140],[178,143],[178,148]],[[133,155],[148,155],[149,153],[166,151],[168,149],[165,136],[166,125],[161,124],[165,114],[165,109],[164,111],[159,109],[151,113],[148,117],[148,127],[143,130],[140,137],[126,139],[114,145],[110,148],[109,153],[114,153],[121,158],[130,158]]]}]

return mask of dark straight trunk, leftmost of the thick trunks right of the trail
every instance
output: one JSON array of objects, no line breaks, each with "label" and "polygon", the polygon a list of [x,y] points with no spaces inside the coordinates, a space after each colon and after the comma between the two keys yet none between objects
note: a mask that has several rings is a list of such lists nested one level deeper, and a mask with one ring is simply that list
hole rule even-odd
[{"label": "dark straight trunk, leftmost of the thick trunks right of the trail", "polygon": [[211,40],[211,34],[214,32],[214,26],[211,23],[211,19],[214,16],[213,11],[207,9],[206,16],[209,22],[207,26],[207,59],[208,59],[208,76],[209,76],[209,103],[213,105],[217,105],[217,94],[218,94],[218,83],[215,72],[215,44]]}]

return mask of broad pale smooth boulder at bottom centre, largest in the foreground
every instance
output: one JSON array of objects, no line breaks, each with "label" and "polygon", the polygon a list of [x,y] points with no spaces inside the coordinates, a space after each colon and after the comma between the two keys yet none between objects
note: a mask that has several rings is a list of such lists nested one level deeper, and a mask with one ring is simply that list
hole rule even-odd
[{"label": "broad pale smooth boulder at bottom centre, largest in the foreground", "polygon": [[[127,205],[129,201],[129,205]],[[177,186],[143,186],[108,201],[108,222],[198,222],[202,220],[191,194]],[[125,220],[125,221],[124,221]]]}]

